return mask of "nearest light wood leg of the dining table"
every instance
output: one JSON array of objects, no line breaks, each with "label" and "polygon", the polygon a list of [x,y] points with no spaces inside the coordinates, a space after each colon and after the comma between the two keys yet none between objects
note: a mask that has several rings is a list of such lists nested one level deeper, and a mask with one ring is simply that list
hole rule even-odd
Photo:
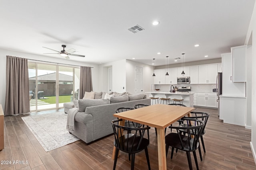
[{"label": "nearest light wood leg of the dining table", "polygon": [[157,131],[157,147],[158,147],[158,169],[166,170],[166,150],[164,129],[156,128]]}]

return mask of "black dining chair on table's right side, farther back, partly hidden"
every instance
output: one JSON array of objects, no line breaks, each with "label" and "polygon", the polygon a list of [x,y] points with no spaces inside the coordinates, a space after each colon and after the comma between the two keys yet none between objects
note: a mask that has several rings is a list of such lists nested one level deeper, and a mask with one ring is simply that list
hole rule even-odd
[{"label": "black dining chair on table's right side, farther back, partly hidden", "polygon": [[[205,112],[192,111],[192,112],[190,112],[190,115],[191,116],[188,117],[188,118],[199,119],[199,120],[204,121],[204,127],[203,127],[202,133],[200,135],[200,139],[201,139],[201,143],[202,143],[202,146],[203,146],[203,149],[204,149],[204,153],[206,153],[206,150],[205,150],[205,147],[204,147],[203,135],[205,134],[205,127],[206,127],[206,123],[208,121],[208,118],[210,117],[210,114],[209,113],[205,113]],[[179,126],[187,127],[188,124],[187,123],[182,123]],[[200,146],[199,146],[198,151],[199,151],[199,154],[200,154],[200,160],[203,160]]]}]

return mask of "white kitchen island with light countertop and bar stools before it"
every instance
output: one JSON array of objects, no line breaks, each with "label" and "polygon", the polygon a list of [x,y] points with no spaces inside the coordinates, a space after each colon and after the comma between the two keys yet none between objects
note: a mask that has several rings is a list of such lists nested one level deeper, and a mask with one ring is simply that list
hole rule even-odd
[{"label": "white kitchen island with light countertop and bar stools before it", "polygon": [[[193,94],[190,92],[169,92],[169,91],[152,91],[152,92],[145,92],[149,94],[149,97],[154,98],[170,98],[170,104],[173,103],[172,99],[183,99],[182,103],[187,107],[194,107],[193,104]],[[160,100],[159,100],[160,103]],[[177,102],[180,103],[180,102]]]}]

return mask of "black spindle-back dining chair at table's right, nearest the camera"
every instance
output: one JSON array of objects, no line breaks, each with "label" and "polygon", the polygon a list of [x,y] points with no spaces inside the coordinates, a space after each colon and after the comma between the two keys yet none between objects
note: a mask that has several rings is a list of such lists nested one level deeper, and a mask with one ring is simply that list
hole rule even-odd
[{"label": "black spindle-back dining chair at table's right, nearest the camera", "polygon": [[173,157],[175,148],[185,151],[187,154],[189,169],[192,170],[190,152],[193,152],[194,160],[196,162],[196,169],[198,170],[199,168],[196,158],[196,149],[198,149],[200,145],[199,139],[204,127],[204,121],[188,117],[182,117],[182,120],[186,121],[188,126],[172,126],[172,129],[176,129],[177,133],[169,133],[165,136],[166,156],[168,154],[169,147],[172,147],[171,159]]}]

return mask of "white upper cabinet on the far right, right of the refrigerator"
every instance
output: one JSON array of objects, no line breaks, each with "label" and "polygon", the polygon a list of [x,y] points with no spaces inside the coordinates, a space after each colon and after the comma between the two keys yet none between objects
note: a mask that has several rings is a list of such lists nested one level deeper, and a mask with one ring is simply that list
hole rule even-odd
[{"label": "white upper cabinet on the far right, right of the refrigerator", "polygon": [[232,47],[233,82],[246,82],[246,45]]}]

